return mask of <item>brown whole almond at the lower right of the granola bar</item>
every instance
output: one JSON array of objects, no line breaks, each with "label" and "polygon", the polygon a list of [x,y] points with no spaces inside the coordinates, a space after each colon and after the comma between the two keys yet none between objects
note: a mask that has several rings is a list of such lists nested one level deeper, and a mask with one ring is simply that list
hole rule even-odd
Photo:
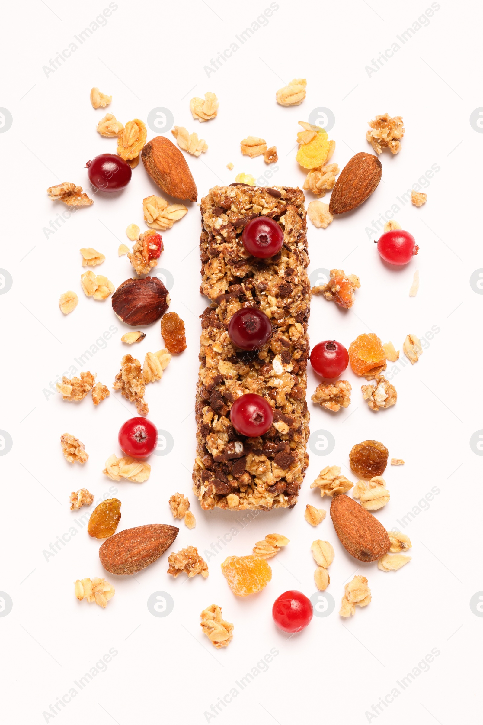
[{"label": "brown whole almond at the lower right of the granola bar", "polygon": [[390,540],[382,523],[345,494],[332,497],[330,518],[340,543],[355,559],[376,561],[390,550]]}]

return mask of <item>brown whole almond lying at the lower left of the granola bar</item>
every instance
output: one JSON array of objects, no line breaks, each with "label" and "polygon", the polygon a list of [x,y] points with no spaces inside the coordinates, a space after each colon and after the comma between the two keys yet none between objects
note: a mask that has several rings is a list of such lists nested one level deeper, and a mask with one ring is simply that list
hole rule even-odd
[{"label": "brown whole almond lying at the lower left of the granola bar", "polygon": [[148,523],[135,526],[106,539],[99,549],[99,559],[112,574],[133,574],[152,564],[175,541],[176,526]]}]

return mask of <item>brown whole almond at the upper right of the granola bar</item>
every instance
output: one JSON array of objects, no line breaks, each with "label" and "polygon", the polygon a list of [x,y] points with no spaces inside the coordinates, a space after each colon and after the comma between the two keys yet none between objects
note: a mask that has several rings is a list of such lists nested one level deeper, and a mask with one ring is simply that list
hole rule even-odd
[{"label": "brown whole almond at the upper right of the granola bar", "polygon": [[335,183],[329,212],[343,214],[356,209],[376,190],[381,176],[382,165],[377,156],[365,152],[353,156]]}]

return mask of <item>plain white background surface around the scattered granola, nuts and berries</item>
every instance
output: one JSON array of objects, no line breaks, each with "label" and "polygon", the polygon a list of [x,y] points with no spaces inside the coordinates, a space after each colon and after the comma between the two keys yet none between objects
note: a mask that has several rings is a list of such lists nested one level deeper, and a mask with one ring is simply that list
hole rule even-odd
[{"label": "plain white background surface around the scattered granola, nuts and berries", "polygon": [[[13,117],[12,128],[0,134],[0,267],[13,278],[12,289],[0,296],[0,428],[13,441],[12,450],[0,457],[0,590],[13,601],[8,616],[0,617],[5,722],[249,720],[288,725],[303,718],[340,725],[376,720],[402,725],[410,719],[447,725],[457,718],[473,721],[481,711],[477,647],[483,620],[469,607],[471,596],[483,589],[481,459],[469,447],[471,434],[483,427],[478,360],[482,297],[469,286],[471,273],[483,266],[479,223],[472,215],[480,204],[483,136],[469,123],[471,112],[483,104],[476,75],[481,7],[441,1],[429,24],[403,45],[396,36],[418,20],[429,2],[278,4],[268,24],[241,45],[235,35],[256,21],[268,2],[119,1],[106,25],[82,45],[75,41],[77,50],[49,75],[43,66],[107,3],[49,0],[48,7],[30,0],[22,9],[4,9],[0,105]],[[233,41],[239,49],[208,78],[203,67]],[[400,45],[394,57],[369,75],[366,66],[394,42]],[[282,108],[275,92],[294,76],[307,78],[306,100],[300,107]],[[93,110],[92,86],[112,94],[109,108]],[[217,94],[219,113],[201,125],[192,119],[189,101],[206,91]],[[136,415],[119,393],[95,408],[90,396],[68,404],[44,392],[75,365],[74,357],[114,325],[116,332],[106,347],[82,368],[112,386],[127,352],[120,342],[127,327],[114,316],[110,300],[95,302],[84,296],[79,249],[92,246],[103,252],[106,261],[96,271],[119,285],[132,272],[127,257],[117,257],[119,244],[128,243],[125,228],[130,223],[144,228],[143,197],[159,193],[140,164],[122,193],[97,194],[92,207],[80,209],[46,238],[43,228],[67,209],[51,202],[46,188],[74,181],[90,193],[85,162],[116,148],[115,139],[96,133],[98,120],[109,111],[122,123],[134,117],[146,122],[155,107],[170,109],[177,125],[196,131],[209,145],[202,157],[188,157],[198,202],[211,186],[234,181],[240,171],[256,177],[266,173],[261,157],[240,154],[240,140],[249,134],[277,146],[278,170],[269,183],[301,186],[304,174],[295,162],[297,122],[308,120],[317,107],[335,115],[329,137],[337,143],[332,160],[341,168],[354,153],[370,151],[366,123],[378,113],[402,115],[406,127],[401,152],[395,157],[382,154],[382,182],[364,206],[336,218],[326,230],[308,223],[309,272],[342,267],[361,278],[350,312],[314,298],[308,331],[312,344],[335,338],[346,347],[358,334],[374,331],[382,341],[392,340],[402,358],[406,334],[422,339],[436,328],[437,334],[427,338],[419,363],[400,364],[398,374],[392,373],[398,403],[390,410],[372,413],[361,396],[361,379],[350,370],[344,376],[353,386],[347,410],[332,415],[309,402],[311,431],[332,433],[335,450],[327,457],[311,454],[295,509],[261,513],[245,527],[236,513],[201,511],[191,492],[198,315],[206,306],[198,292],[196,204],[188,202],[188,215],[163,233],[159,267],[175,280],[170,309],[185,320],[188,348],[146,392],[148,417],[174,439],[169,455],[151,457],[151,478],[144,484],[115,484],[102,474],[106,458],[119,454],[119,426]],[[154,135],[148,129],[148,138]],[[167,137],[172,138],[170,133]],[[226,168],[230,161],[232,172]],[[397,272],[385,268],[372,241],[379,234],[369,238],[365,230],[432,165],[440,170],[424,188],[427,204],[419,209],[399,204],[394,215],[416,237],[419,256]],[[307,202],[314,198],[307,196]],[[416,268],[421,287],[410,298]],[[79,305],[64,317],[58,299],[67,289],[77,291]],[[149,350],[163,347],[159,323],[146,332],[146,339],[129,350],[140,360]],[[316,384],[309,371],[309,394]],[[64,431],[85,443],[90,455],[85,466],[64,460],[59,444]],[[317,529],[303,518],[307,503],[329,510],[330,501],[321,501],[310,489],[325,465],[340,465],[356,481],[348,469],[348,453],[368,438],[381,440],[390,456],[406,460],[402,468],[388,466],[386,471],[391,499],[376,515],[388,529],[398,528],[397,520],[417,507],[433,486],[440,491],[403,529],[413,542],[413,559],[397,573],[383,573],[376,564],[350,558],[328,513]],[[85,513],[69,510],[69,494],[81,486],[96,501],[109,494],[109,486],[114,486],[109,495],[117,489],[122,501],[119,529],[174,523],[169,496],[176,491],[187,495],[196,529],[189,531],[180,523],[169,552],[188,544],[200,552],[210,550],[233,526],[238,534],[211,556],[206,580],[168,576],[169,552],[135,577],[107,575],[116,594],[103,610],[74,597],[75,579],[105,573],[97,554],[100,542],[88,537],[85,527],[48,560],[43,553]],[[227,555],[250,553],[272,531],[290,538],[286,550],[270,561],[272,581],[259,595],[236,598],[220,563]],[[310,551],[316,538],[335,547],[327,589],[335,611],[326,618],[314,616],[305,631],[288,638],[274,626],[272,602],[286,589],[301,589],[308,596],[316,592]],[[343,620],[337,614],[343,586],[356,572],[369,579],[372,601]],[[174,600],[165,618],[152,616],[147,607],[148,597],[158,591]],[[212,602],[235,624],[226,650],[215,650],[198,624],[201,610]],[[74,681],[112,648],[117,655],[106,671],[84,689],[76,687]],[[272,648],[278,654],[268,670],[242,691],[235,681]],[[434,649],[440,654],[429,671],[406,689],[398,686]],[[60,712],[54,708],[55,716],[49,713],[49,706],[72,687],[77,695],[65,697],[67,704],[59,705]],[[238,696],[226,707],[219,705],[221,712],[210,711],[233,687]],[[373,703],[395,687],[398,697],[385,708],[381,705],[379,713],[377,708],[372,711]]]}]

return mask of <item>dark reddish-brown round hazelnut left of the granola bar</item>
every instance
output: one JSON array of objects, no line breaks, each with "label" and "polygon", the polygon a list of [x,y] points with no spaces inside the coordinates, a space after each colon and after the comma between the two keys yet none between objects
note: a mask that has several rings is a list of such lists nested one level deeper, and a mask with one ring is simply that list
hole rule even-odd
[{"label": "dark reddish-brown round hazelnut left of the granola bar", "polygon": [[112,295],[112,309],[132,327],[152,325],[169,307],[169,292],[157,277],[127,279]]}]

